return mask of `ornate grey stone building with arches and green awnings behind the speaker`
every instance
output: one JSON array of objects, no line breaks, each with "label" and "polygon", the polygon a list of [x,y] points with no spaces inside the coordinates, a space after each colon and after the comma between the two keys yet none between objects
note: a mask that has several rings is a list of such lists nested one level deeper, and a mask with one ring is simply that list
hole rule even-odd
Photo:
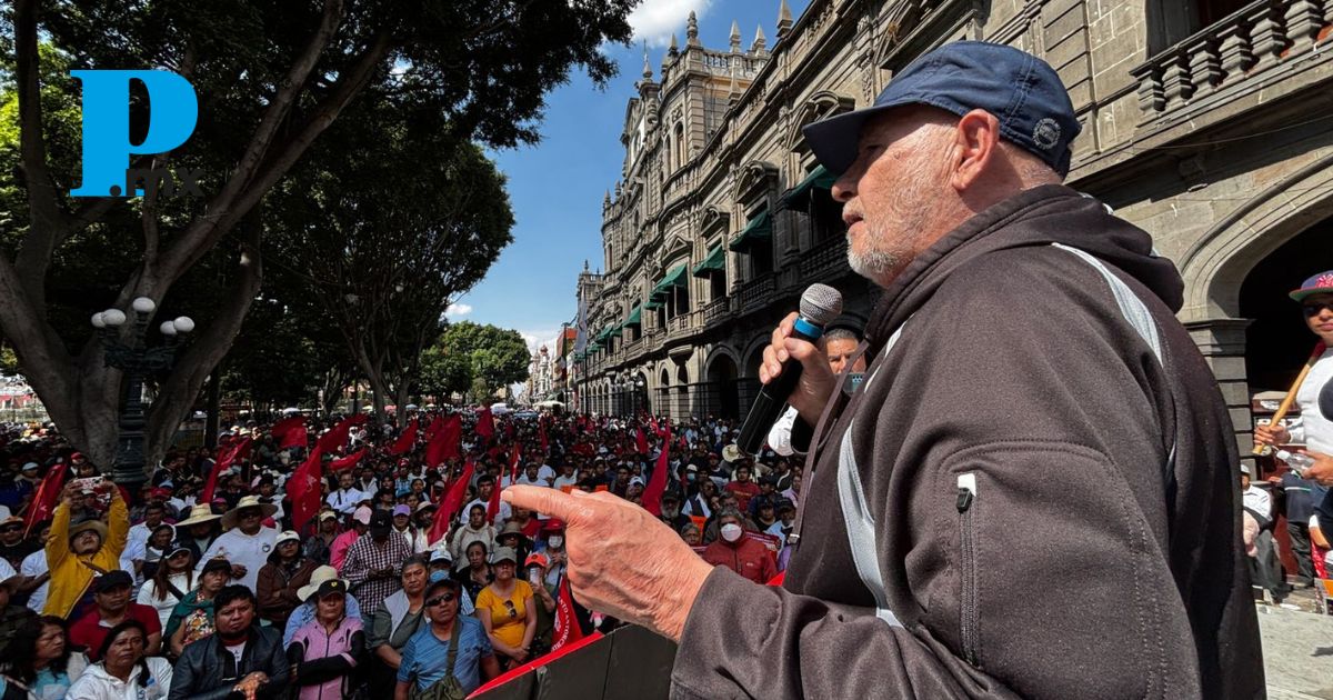
[{"label": "ornate grey stone building with arches and green awnings behind the speaker", "polygon": [[980,39],[1060,72],[1084,125],[1068,183],[1176,261],[1181,320],[1246,433],[1252,392],[1285,389],[1313,343],[1285,292],[1333,268],[1330,32],[1333,0],[812,0],[798,20],[780,4],[772,47],[733,25],[714,51],[690,16],[625,109],[605,272],[579,285],[580,405],[736,416],[801,289],[828,281],[866,311],[800,129]]}]

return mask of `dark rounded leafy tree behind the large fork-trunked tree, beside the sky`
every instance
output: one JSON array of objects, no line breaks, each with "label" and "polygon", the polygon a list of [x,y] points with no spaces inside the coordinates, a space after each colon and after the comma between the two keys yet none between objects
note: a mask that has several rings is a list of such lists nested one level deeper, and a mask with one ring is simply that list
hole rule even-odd
[{"label": "dark rounded leafy tree behind the large fork-trunked tree, beside the sky", "polygon": [[389,400],[408,401],[449,301],[512,240],[504,177],[448,124],[368,91],[271,199],[283,212],[271,257],[309,272],[308,301],[341,332],[383,420]]}]

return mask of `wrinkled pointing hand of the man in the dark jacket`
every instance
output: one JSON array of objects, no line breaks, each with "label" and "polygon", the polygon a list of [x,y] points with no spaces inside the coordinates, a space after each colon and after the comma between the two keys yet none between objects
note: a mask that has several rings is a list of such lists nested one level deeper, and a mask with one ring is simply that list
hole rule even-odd
[{"label": "wrinkled pointing hand of the man in the dark jacket", "polygon": [[515,485],[500,497],[565,523],[565,573],[580,603],[680,640],[713,567],[666,524],[609,492]]}]

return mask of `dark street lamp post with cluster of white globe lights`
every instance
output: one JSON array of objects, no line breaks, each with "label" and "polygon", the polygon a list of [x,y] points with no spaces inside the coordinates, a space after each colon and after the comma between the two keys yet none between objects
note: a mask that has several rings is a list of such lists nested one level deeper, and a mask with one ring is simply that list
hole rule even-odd
[{"label": "dark street lamp post with cluster of white globe lights", "polygon": [[125,404],[120,409],[120,423],[116,436],[116,461],[112,464],[112,481],[123,484],[135,493],[135,487],[148,480],[144,473],[144,377],[149,373],[171,369],[176,359],[179,337],[195,329],[195,321],[188,316],[163,321],[159,332],[167,337],[164,345],[144,347],[148,332],[148,319],[157,305],[152,299],[141,296],[131,304],[135,311],[135,327],[129,341],[121,343],[117,329],[128,320],[120,309],[107,309],[95,313],[92,325],[101,339],[105,367],[125,372],[129,380],[125,391]]}]

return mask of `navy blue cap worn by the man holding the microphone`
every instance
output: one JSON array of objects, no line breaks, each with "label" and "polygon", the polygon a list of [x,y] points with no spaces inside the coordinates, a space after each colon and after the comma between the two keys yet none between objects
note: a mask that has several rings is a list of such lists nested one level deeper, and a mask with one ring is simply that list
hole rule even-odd
[{"label": "navy blue cap worn by the man holding the microphone", "polygon": [[1061,176],[1069,173],[1069,144],[1078,136],[1069,92],[1046,61],[1005,44],[954,41],[920,56],[900,71],[874,104],[805,127],[805,140],[830,172],[856,161],[861,125],[872,116],[924,104],[957,116],[985,109],[1000,133],[1032,152]]}]

